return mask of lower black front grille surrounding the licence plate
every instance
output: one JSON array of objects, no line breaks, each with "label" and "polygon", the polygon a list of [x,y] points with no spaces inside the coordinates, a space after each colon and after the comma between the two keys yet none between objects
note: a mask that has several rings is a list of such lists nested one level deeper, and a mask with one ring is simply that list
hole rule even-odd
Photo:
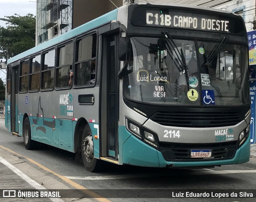
[{"label": "lower black front grille surrounding the licence plate", "polygon": [[[202,160],[222,160],[234,157],[238,148],[238,141],[211,143],[211,144],[182,144],[182,143],[162,143],[160,151],[166,161],[202,161]],[[212,150],[211,158],[191,158],[191,150]]]}]

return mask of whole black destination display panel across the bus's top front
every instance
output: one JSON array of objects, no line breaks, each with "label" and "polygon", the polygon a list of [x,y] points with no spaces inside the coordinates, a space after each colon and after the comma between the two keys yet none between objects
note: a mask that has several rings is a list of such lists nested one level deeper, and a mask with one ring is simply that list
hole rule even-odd
[{"label": "whole black destination display panel across the bus's top front", "polygon": [[134,8],[133,26],[198,30],[226,34],[246,34],[244,20],[234,14],[191,8]]}]

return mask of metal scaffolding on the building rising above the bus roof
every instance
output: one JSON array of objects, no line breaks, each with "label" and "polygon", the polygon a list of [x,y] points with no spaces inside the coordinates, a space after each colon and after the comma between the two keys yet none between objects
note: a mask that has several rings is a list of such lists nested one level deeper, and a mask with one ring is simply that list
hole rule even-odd
[{"label": "metal scaffolding on the building rising above the bus roof", "polygon": [[72,0],[37,0],[37,45],[72,29]]}]

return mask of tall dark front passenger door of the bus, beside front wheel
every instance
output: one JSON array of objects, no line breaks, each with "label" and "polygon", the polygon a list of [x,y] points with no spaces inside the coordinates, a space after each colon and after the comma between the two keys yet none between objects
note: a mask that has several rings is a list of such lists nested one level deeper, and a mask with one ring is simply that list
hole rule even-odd
[{"label": "tall dark front passenger door of the bus, beside front wheel", "polygon": [[103,38],[101,155],[118,159],[118,34]]}]

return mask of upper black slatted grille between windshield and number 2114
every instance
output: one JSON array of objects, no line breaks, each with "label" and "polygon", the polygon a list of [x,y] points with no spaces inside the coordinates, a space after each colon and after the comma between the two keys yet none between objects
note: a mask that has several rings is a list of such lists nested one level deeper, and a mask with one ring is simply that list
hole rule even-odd
[{"label": "upper black slatted grille between windshield and number 2114", "polygon": [[238,112],[221,111],[172,111],[157,112],[150,119],[160,125],[173,127],[226,127],[236,125],[243,119]]}]

